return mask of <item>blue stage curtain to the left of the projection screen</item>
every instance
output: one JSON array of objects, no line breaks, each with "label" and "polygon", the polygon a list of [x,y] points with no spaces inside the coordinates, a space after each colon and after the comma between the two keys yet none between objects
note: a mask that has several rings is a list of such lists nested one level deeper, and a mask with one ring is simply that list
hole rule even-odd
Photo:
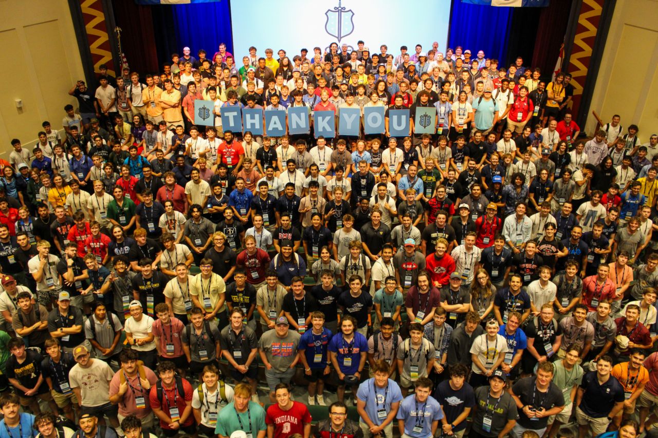
[{"label": "blue stage curtain to the left of the projection screen", "polygon": [[[181,56],[183,47],[187,46],[190,47],[193,57],[197,58],[197,51],[204,49],[207,52],[206,57],[211,59],[218,51],[220,43],[226,44],[226,50],[233,53],[228,0],[174,5],[172,9],[174,32],[180,45],[177,51]],[[242,65],[241,61],[239,65]]]}]

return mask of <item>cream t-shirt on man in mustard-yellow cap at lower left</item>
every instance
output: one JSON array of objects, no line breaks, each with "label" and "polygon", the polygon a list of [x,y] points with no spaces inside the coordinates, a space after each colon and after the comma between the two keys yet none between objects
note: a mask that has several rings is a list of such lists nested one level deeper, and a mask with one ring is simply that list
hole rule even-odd
[{"label": "cream t-shirt on man in mustard-yellow cap at lower left", "polygon": [[93,407],[107,404],[110,381],[114,376],[112,368],[100,359],[89,359],[89,366],[82,368],[76,364],[68,373],[71,388],[80,388],[82,406]]}]

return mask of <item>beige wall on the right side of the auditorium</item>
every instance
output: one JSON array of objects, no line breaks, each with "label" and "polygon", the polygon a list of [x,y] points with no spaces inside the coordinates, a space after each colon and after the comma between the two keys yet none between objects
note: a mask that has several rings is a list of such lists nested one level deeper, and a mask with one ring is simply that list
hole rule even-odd
[{"label": "beige wall on the right side of the auditorium", "polygon": [[594,87],[586,130],[592,135],[595,110],[607,123],[621,116],[624,134],[629,124],[640,128],[643,143],[658,132],[657,0],[617,0]]}]

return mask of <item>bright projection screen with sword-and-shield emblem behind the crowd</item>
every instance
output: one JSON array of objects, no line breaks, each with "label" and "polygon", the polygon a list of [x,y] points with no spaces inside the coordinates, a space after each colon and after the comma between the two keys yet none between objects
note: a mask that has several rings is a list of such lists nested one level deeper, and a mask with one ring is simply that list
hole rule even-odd
[{"label": "bright projection screen with sword-and-shield emblem behind the crowd", "polygon": [[249,55],[249,47],[258,49],[265,57],[265,49],[276,52],[284,49],[290,59],[302,48],[328,49],[332,42],[347,44],[357,49],[357,41],[365,41],[370,53],[379,53],[380,45],[388,46],[388,53],[399,55],[401,45],[415,53],[420,43],[423,51],[437,41],[445,51],[450,17],[450,0],[431,0],[418,3],[403,0],[238,0],[231,1],[231,24],[236,64]]}]

